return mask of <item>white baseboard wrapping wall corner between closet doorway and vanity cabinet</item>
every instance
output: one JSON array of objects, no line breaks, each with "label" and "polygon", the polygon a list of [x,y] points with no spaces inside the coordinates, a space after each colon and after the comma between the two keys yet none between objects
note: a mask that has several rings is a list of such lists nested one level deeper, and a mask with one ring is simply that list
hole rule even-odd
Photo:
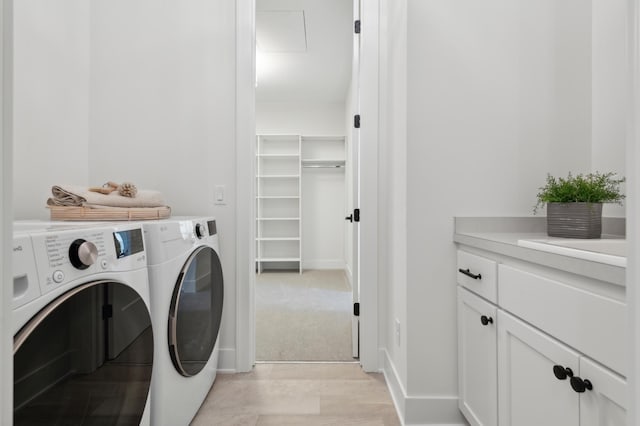
[{"label": "white baseboard wrapping wall corner between closet doorway and vanity cabinet", "polygon": [[398,372],[384,350],[383,373],[403,426],[460,425],[468,423],[458,409],[457,396],[409,396],[400,381]]}]

